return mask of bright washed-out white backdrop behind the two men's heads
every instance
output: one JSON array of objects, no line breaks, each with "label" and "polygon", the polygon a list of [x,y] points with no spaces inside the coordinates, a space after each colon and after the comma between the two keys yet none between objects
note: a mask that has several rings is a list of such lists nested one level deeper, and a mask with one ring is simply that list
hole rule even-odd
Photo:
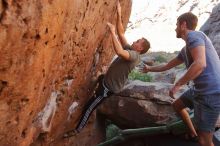
[{"label": "bright washed-out white backdrop behind the two men's heads", "polygon": [[[192,12],[199,16],[198,30],[208,19],[215,3],[208,0],[133,0],[129,20],[132,23],[127,25],[125,33],[128,42],[145,37],[151,43],[152,52],[181,50],[185,43],[176,38],[176,18],[188,12],[193,4]],[[143,21],[138,23],[140,20]]]}]

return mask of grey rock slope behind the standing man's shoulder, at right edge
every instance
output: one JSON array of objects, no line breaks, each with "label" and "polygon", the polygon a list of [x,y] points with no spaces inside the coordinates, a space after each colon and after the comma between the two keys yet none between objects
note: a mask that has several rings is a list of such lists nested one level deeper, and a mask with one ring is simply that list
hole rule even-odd
[{"label": "grey rock slope behind the standing man's shoulder, at right edge", "polygon": [[209,19],[200,30],[209,36],[220,56],[220,3],[213,8]]}]

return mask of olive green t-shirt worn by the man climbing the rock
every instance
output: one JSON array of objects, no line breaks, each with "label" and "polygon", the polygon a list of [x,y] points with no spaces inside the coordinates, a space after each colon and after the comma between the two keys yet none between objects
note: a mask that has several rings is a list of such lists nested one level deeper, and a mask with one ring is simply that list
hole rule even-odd
[{"label": "olive green t-shirt worn by the man climbing the rock", "polygon": [[114,93],[118,93],[123,89],[128,79],[128,74],[140,62],[139,52],[132,50],[130,45],[125,46],[124,49],[129,52],[130,59],[125,60],[117,57],[110,65],[104,77],[107,88]]}]

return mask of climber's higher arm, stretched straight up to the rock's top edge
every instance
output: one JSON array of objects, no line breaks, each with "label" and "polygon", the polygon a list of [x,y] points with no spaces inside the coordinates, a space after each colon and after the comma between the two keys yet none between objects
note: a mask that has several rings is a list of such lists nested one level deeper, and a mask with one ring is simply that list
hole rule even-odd
[{"label": "climber's higher arm, stretched straight up to the rock's top edge", "polygon": [[121,19],[121,5],[118,1],[118,4],[117,4],[117,31],[118,31],[118,37],[120,39],[120,42],[122,44],[122,46],[126,46],[128,45],[128,42],[124,36],[124,28],[123,28],[123,25],[122,25],[122,19]]}]

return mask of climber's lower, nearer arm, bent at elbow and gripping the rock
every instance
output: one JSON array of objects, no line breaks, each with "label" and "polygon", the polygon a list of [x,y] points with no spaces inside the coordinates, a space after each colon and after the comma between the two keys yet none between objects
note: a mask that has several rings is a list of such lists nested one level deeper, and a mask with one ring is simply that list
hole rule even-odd
[{"label": "climber's lower, nearer arm, bent at elbow and gripping the rock", "polygon": [[113,41],[113,45],[114,45],[114,50],[116,52],[116,54],[122,58],[124,58],[125,60],[129,60],[130,59],[130,54],[128,53],[127,50],[124,50],[121,43],[119,42],[117,35],[115,33],[115,26],[112,25],[111,23],[107,23],[108,27],[110,28],[111,31],[111,35],[112,35],[112,41]]}]

